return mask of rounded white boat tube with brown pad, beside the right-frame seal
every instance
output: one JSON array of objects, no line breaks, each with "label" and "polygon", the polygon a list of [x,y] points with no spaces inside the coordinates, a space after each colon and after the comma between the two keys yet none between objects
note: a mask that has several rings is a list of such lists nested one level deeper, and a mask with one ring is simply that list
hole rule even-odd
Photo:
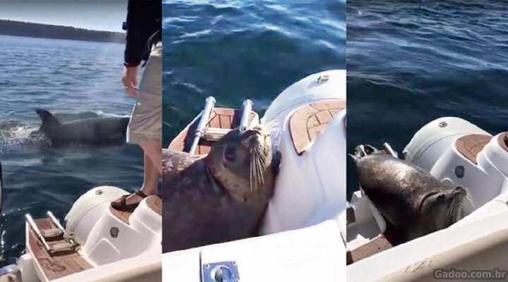
[{"label": "rounded white boat tube with brown pad, beside the right-frame seal", "polygon": [[508,144],[461,118],[437,118],[413,136],[406,161],[420,166],[450,188],[466,188],[464,214],[508,189]]}]

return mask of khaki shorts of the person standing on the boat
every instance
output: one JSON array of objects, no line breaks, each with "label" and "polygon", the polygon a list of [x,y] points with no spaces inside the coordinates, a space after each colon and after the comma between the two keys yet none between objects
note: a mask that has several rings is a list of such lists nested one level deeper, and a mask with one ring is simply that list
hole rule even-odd
[{"label": "khaki shorts of the person standing on the boat", "polygon": [[161,142],[162,140],[162,44],[152,48],[143,72],[139,98],[134,104],[127,128],[127,142]]}]

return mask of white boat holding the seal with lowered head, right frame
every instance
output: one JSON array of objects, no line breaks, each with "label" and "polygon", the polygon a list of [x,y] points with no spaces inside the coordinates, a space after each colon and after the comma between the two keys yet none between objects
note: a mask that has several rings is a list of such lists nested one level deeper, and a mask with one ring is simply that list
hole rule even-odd
[{"label": "white boat holding the seal with lowered head, right frame", "polygon": [[[389,145],[385,150],[398,155]],[[346,212],[347,281],[506,279],[508,133],[492,135],[461,118],[438,118],[416,132],[401,157],[450,188],[466,188],[464,216],[397,243],[368,197],[354,192]]]}]

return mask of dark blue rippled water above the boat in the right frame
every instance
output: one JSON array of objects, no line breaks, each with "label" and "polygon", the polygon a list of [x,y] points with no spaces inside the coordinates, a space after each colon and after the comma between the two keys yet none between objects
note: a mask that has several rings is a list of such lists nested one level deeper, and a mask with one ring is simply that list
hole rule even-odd
[{"label": "dark blue rippled water above the boat in the right frame", "polygon": [[[347,2],[348,152],[401,152],[426,123],[508,130],[506,1]],[[358,178],[348,161],[348,195]]]}]

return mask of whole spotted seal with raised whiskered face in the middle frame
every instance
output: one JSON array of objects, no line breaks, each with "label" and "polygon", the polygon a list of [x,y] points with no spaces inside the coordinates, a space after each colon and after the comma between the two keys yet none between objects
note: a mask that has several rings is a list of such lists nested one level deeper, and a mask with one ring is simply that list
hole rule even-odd
[{"label": "whole spotted seal with raised whiskered face in the middle frame", "polygon": [[164,252],[257,235],[278,160],[260,128],[231,130],[206,157],[164,149]]}]

